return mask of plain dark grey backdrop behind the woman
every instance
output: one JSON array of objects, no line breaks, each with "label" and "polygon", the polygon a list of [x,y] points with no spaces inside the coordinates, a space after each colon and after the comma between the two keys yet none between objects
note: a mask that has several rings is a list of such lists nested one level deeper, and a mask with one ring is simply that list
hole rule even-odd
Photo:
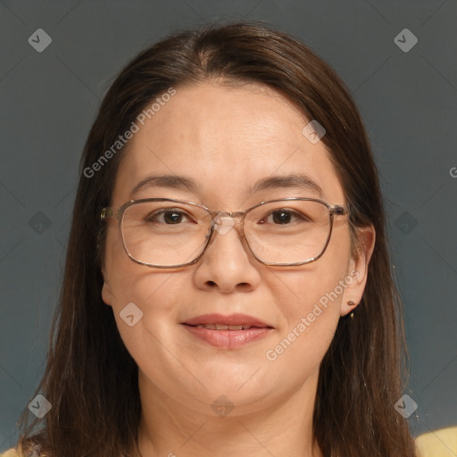
[{"label": "plain dark grey backdrop behind the woman", "polygon": [[[79,155],[112,76],[164,35],[263,20],[327,60],[370,133],[405,304],[414,436],[457,425],[457,2],[0,2],[0,451],[42,376]],[[418,43],[403,52],[395,37]],[[42,53],[28,38],[44,29]],[[411,37],[402,37],[406,45]],[[454,177],[453,177],[453,176]]]}]

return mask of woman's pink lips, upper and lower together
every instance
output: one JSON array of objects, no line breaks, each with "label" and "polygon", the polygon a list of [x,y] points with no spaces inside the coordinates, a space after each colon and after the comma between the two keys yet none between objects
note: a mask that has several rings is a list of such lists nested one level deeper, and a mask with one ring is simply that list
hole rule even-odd
[{"label": "woman's pink lips, upper and lower together", "polygon": [[[225,324],[251,326],[245,330],[212,330],[210,328],[198,328],[198,324]],[[193,336],[205,343],[220,349],[236,349],[267,337],[274,328],[263,322],[248,316],[247,314],[203,314],[197,316],[182,325]]]}]

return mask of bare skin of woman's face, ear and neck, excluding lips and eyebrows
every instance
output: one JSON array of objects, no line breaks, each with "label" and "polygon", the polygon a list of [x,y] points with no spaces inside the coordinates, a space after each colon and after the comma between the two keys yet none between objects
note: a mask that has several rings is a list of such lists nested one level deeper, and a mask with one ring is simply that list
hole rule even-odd
[{"label": "bare skin of woman's face, ear and neck, excluding lips and eyebrows", "polygon": [[[307,123],[286,98],[261,85],[234,88],[207,81],[178,87],[129,140],[112,206],[129,201],[131,189],[153,174],[185,175],[199,187],[196,192],[146,188],[136,198],[177,198],[228,212],[264,200],[316,196],[295,188],[247,191],[257,179],[297,170],[322,187],[329,204],[345,204],[325,145],[303,136]],[[117,220],[107,223],[102,296],[139,368],[142,455],[322,456],[317,445],[312,447],[320,361],[339,318],[355,308],[346,303],[361,301],[374,230],[361,231],[366,253],[352,258],[347,216],[337,216],[318,261],[281,268],[256,261],[236,226],[213,235],[194,265],[157,270],[132,262]],[[267,360],[265,353],[351,271],[357,271],[357,279],[275,361]],[[143,312],[133,327],[120,319],[127,303]],[[212,312],[249,314],[274,330],[262,340],[224,350],[196,339],[180,324]],[[225,417],[212,409],[220,395],[234,406]]]}]

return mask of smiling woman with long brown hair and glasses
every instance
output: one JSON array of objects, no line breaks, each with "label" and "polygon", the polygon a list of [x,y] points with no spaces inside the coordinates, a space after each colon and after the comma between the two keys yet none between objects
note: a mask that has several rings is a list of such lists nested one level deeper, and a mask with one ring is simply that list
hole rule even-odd
[{"label": "smiling woman with long brown hair and glasses", "polygon": [[120,72],[58,311],[25,455],[415,455],[369,140],[284,33],[187,30]]}]

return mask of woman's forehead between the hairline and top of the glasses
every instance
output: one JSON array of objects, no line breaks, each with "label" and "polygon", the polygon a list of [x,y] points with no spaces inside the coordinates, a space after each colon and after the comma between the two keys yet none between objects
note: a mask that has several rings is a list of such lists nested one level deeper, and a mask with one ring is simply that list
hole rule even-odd
[{"label": "woman's forehead between the hairline and top of the glasses", "polygon": [[[174,96],[154,108],[136,120],[137,132],[120,162],[113,204],[160,194],[238,209],[261,196],[318,196],[310,186],[293,190],[280,179],[274,186],[273,178],[291,174],[315,183],[329,203],[343,203],[327,148],[303,136],[309,120],[269,87],[202,82],[177,87]],[[132,195],[138,183],[162,175],[188,178],[193,186],[174,188],[168,186],[173,179],[150,179],[154,187],[144,185]],[[268,178],[269,186],[256,187]]]}]

